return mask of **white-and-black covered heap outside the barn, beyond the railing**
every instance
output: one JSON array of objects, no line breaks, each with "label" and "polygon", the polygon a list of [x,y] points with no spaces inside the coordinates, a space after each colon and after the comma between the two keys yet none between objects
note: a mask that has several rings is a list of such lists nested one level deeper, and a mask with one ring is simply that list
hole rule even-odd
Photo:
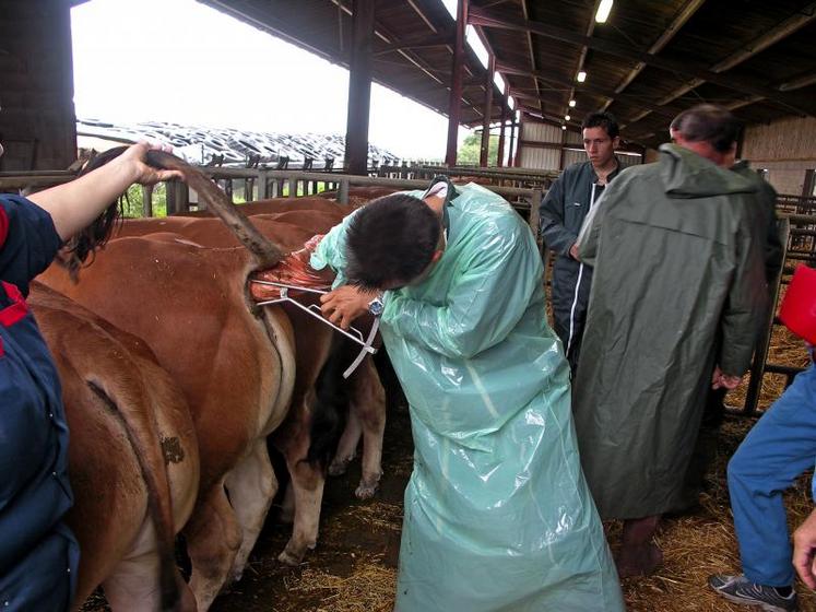
[{"label": "white-and-black covered heap outside the barn, beyond the railing", "polygon": [[[170,144],[174,152],[196,164],[212,163],[214,156],[224,156],[224,165],[245,165],[250,156],[259,156],[261,165],[274,165],[281,157],[293,163],[306,158],[322,167],[327,157],[334,167],[343,166],[345,138],[340,134],[270,133],[233,128],[200,128],[163,121],[141,123],[111,123],[96,119],[78,119],[76,133],[114,142],[150,140]],[[368,145],[369,161],[394,164],[399,157],[389,151]]]}]

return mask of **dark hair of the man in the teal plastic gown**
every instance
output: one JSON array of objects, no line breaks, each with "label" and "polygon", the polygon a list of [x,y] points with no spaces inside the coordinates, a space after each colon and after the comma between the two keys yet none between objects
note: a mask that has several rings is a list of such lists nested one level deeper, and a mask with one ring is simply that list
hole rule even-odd
[{"label": "dark hair of the man in the teal plastic gown", "polygon": [[411,283],[430,264],[440,234],[439,217],[418,198],[372,200],[348,223],[348,282],[364,289]]}]

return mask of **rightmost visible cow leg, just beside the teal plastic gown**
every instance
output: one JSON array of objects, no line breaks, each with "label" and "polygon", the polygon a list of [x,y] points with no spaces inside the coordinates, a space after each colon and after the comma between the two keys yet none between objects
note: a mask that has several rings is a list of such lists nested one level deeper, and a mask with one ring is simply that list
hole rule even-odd
[{"label": "rightmost visible cow leg, just beside the teal plastic gown", "polygon": [[363,475],[354,494],[374,497],[382,476],[382,436],[386,431],[386,390],[374,361],[366,357],[352,376],[351,412],[363,427]]}]

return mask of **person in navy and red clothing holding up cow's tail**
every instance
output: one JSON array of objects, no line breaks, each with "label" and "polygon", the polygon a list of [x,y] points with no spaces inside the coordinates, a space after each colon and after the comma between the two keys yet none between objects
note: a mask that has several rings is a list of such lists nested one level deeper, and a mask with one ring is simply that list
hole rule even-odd
[{"label": "person in navy and red clothing holding up cow's tail", "polygon": [[0,610],[68,610],[80,556],[62,520],[73,497],[60,384],[28,283],[128,186],[178,176],[147,166],[150,148],[27,198],[0,195]]}]

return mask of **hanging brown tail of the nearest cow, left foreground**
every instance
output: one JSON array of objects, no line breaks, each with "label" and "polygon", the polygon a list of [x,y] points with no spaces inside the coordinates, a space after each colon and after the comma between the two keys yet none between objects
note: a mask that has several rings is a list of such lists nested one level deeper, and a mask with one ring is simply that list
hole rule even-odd
[{"label": "hanging brown tail of the nearest cow, left foreground", "polygon": [[128,397],[128,391],[117,388],[109,378],[106,377],[103,382],[94,376],[86,376],[85,380],[111,415],[120,421],[133,447],[147,490],[149,513],[156,532],[162,610],[175,611],[180,605],[180,592],[176,582],[173,498],[152,401],[145,392],[145,381],[138,381],[137,385],[142,390],[142,397],[133,398]]}]

